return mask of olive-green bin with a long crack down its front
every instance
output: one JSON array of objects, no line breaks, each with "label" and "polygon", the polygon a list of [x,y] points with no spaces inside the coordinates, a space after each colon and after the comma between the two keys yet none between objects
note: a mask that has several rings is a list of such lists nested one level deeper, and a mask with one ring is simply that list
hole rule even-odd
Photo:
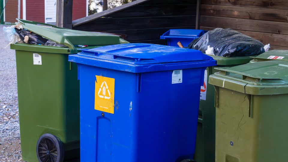
[{"label": "olive-green bin with a long crack down its front", "polygon": [[288,61],[217,70],[215,161],[287,161]]}]

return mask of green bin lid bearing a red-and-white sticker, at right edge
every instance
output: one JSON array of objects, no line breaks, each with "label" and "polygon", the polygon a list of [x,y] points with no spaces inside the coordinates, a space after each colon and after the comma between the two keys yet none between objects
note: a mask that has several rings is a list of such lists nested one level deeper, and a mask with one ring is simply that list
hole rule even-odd
[{"label": "green bin lid bearing a red-and-white sticker, at right edge", "polygon": [[254,58],[254,62],[257,61],[269,61],[269,60],[282,60],[282,61],[288,61],[288,50],[280,50],[280,49],[274,49],[271,51],[264,52]]}]

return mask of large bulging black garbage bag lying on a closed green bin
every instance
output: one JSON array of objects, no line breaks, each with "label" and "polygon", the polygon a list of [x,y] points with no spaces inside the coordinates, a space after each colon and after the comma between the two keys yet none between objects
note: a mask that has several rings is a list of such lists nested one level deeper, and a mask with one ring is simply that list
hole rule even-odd
[{"label": "large bulging black garbage bag lying on a closed green bin", "polygon": [[206,32],[192,41],[187,48],[205,53],[207,47],[214,48],[214,54],[222,57],[239,57],[259,55],[264,50],[264,44],[233,29],[216,28]]}]

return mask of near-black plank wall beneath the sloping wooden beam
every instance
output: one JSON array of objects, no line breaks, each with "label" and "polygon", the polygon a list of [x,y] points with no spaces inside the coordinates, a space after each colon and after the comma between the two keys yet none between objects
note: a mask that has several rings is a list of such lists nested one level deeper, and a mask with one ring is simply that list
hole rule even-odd
[{"label": "near-black plank wall beneath the sloping wooden beam", "polygon": [[127,35],[131,43],[167,44],[169,29],[195,29],[196,0],[151,0],[73,27]]}]

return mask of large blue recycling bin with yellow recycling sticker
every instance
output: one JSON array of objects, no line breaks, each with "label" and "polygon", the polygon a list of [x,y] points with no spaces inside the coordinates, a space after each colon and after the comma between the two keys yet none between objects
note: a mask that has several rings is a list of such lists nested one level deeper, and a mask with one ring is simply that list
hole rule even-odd
[{"label": "large blue recycling bin with yellow recycling sticker", "polygon": [[193,158],[200,86],[213,58],[155,44],[81,50],[69,55],[80,80],[81,161]]}]

